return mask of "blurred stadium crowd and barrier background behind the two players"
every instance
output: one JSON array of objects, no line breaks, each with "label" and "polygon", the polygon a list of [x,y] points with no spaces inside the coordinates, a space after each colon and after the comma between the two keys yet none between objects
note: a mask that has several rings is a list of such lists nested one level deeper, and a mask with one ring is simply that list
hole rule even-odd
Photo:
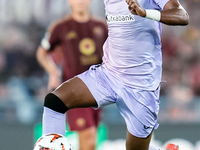
[{"label": "blurred stadium crowd and barrier background behind the two players", "polygon": [[[163,25],[163,80],[153,143],[200,150],[200,1],[180,0],[187,27]],[[31,150],[40,129],[47,74],[35,53],[50,23],[69,13],[65,0],[0,0],[0,147]],[[104,19],[103,0],[91,13]],[[125,150],[126,127],[115,105],[102,114],[101,150]],[[36,131],[37,130],[37,131]],[[76,145],[76,135],[71,134]],[[102,142],[103,141],[103,142]]]}]

